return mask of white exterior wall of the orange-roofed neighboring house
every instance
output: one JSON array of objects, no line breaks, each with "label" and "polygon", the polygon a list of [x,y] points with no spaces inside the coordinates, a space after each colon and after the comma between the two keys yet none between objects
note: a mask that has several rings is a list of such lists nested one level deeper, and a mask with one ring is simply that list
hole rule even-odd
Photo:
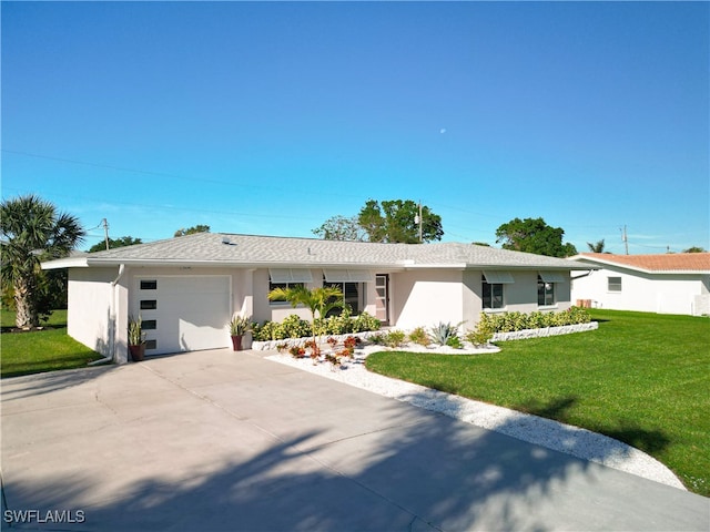
[{"label": "white exterior wall of the orange-roofed neighboring house", "polygon": [[[609,290],[609,277],[621,278],[621,291]],[[571,298],[613,310],[693,315],[701,314],[698,296],[708,294],[709,285],[701,274],[647,274],[608,266],[575,279]]]}]

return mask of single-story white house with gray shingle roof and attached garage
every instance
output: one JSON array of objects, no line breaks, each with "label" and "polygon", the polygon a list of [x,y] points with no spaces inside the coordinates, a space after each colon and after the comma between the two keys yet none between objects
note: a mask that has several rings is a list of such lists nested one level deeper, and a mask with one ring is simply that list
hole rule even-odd
[{"label": "single-story white house with gray shingle roof and attached garage", "polygon": [[234,313],[255,321],[308,318],[270,301],[274,287],[337,285],[353,314],[402,329],[439,321],[471,328],[481,311],[565,310],[566,259],[469,244],[375,244],[200,233],[42,265],[69,268],[69,335],[126,360],[129,316],[146,355],[230,345]]}]

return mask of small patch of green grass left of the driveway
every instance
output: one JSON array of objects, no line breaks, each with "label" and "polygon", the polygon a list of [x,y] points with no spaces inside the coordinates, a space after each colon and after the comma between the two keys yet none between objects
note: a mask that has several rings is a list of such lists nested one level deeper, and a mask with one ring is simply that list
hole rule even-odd
[{"label": "small patch of green grass left of the driveway", "polygon": [[0,376],[40,374],[58,369],[83,368],[101,356],[67,335],[67,310],[54,310],[43,330],[7,331],[14,325],[14,313],[0,313]]}]

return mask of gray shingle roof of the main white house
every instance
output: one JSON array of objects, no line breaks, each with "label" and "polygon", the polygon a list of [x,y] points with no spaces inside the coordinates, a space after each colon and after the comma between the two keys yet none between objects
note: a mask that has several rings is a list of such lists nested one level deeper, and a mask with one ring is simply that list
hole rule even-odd
[{"label": "gray shingle roof of the main white house", "polygon": [[45,268],[115,264],[282,267],[507,267],[588,269],[562,258],[458,243],[377,244],[199,233],[45,263]]}]

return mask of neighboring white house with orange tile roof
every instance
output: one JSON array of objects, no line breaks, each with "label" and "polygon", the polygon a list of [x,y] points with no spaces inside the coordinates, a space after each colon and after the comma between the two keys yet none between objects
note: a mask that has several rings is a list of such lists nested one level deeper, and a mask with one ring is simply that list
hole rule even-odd
[{"label": "neighboring white house with orange tile roof", "polygon": [[572,260],[600,268],[572,280],[572,301],[659,314],[710,314],[710,253],[611,255]]}]

